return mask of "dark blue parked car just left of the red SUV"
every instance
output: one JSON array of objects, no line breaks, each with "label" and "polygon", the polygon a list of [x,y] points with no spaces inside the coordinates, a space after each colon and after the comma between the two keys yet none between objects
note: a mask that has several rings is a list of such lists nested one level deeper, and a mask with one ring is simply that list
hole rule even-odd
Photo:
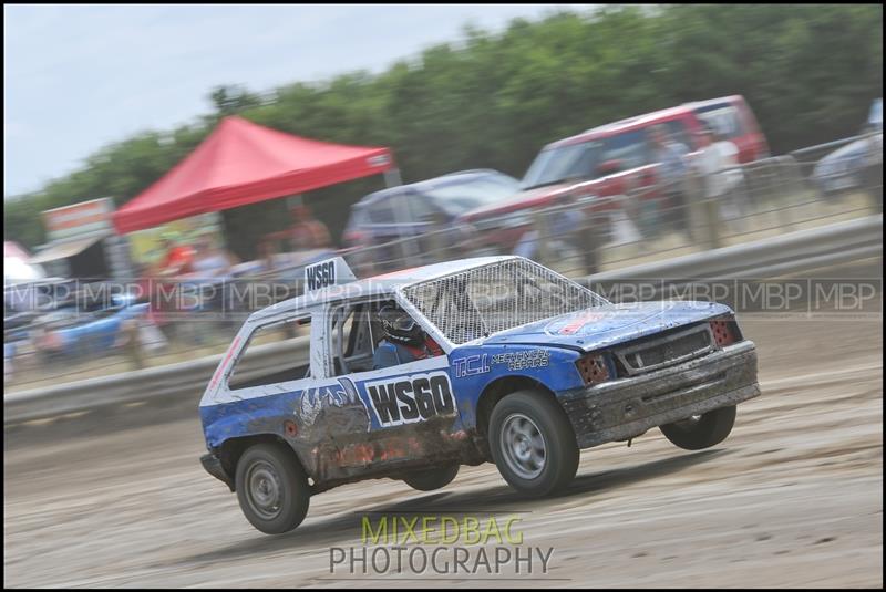
[{"label": "dark blue parked car just left of the red SUV", "polygon": [[[444,232],[437,237],[437,245],[457,245],[467,237],[461,226],[453,224],[455,218],[477,207],[507,199],[518,191],[517,179],[492,169],[461,170],[382,189],[352,206],[343,242],[349,248],[367,248],[440,229]],[[371,255],[367,255],[375,263],[383,263],[402,257],[403,249],[411,249],[412,256],[436,250],[433,245],[406,241],[405,245],[373,249]]]}]

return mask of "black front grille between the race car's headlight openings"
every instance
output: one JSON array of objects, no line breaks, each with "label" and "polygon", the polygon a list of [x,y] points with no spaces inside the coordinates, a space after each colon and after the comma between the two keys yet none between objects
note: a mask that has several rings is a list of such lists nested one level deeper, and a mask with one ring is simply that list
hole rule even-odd
[{"label": "black front grille between the race car's headlight openings", "polygon": [[616,349],[619,370],[633,376],[672,364],[679,364],[713,351],[708,323]]}]

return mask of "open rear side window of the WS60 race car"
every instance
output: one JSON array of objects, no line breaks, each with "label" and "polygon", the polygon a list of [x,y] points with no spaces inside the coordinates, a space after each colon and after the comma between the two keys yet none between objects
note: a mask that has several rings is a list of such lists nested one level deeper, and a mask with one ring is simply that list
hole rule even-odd
[{"label": "open rear side window of the WS60 race car", "polygon": [[240,353],[228,378],[228,388],[237,391],[310,376],[310,314],[256,329]]}]

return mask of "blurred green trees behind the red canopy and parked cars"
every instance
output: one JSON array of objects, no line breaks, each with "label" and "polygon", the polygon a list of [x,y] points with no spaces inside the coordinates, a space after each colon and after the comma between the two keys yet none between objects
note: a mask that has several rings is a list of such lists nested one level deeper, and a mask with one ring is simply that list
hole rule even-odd
[{"label": "blurred green trees behind the red canopy and parked cars", "polygon": [[[515,19],[498,34],[465,27],[385,72],[295,83],[259,96],[219,86],[192,126],[145,132],[90,156],[71,175],[7,201],[6,236],[42,240],[34,214],[112,196],[122,206],[184,158],[222,116],[284,132],[389,146],[405,183],[464,168],[522,176],[548,142],[686,101],[742,94],[772,152],[855,134],[883,95],[883,7],[718,4],[606,7]],[[361,179],[307,202],[338,239],[351,204],[382,187]],[[228,239],[251,257],[289,219],[284,200],[225,212]]]}]

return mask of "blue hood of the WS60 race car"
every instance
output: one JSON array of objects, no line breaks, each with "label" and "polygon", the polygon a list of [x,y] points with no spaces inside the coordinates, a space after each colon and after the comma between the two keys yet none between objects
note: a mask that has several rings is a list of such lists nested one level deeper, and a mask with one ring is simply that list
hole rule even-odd
[{"label": "blue hood of the WS60 race car", "polygon": [[729,307],[715,302],[607,304],[508,329],[491,335],[483,344],[553,345],[591,351],[731,312]]}]

